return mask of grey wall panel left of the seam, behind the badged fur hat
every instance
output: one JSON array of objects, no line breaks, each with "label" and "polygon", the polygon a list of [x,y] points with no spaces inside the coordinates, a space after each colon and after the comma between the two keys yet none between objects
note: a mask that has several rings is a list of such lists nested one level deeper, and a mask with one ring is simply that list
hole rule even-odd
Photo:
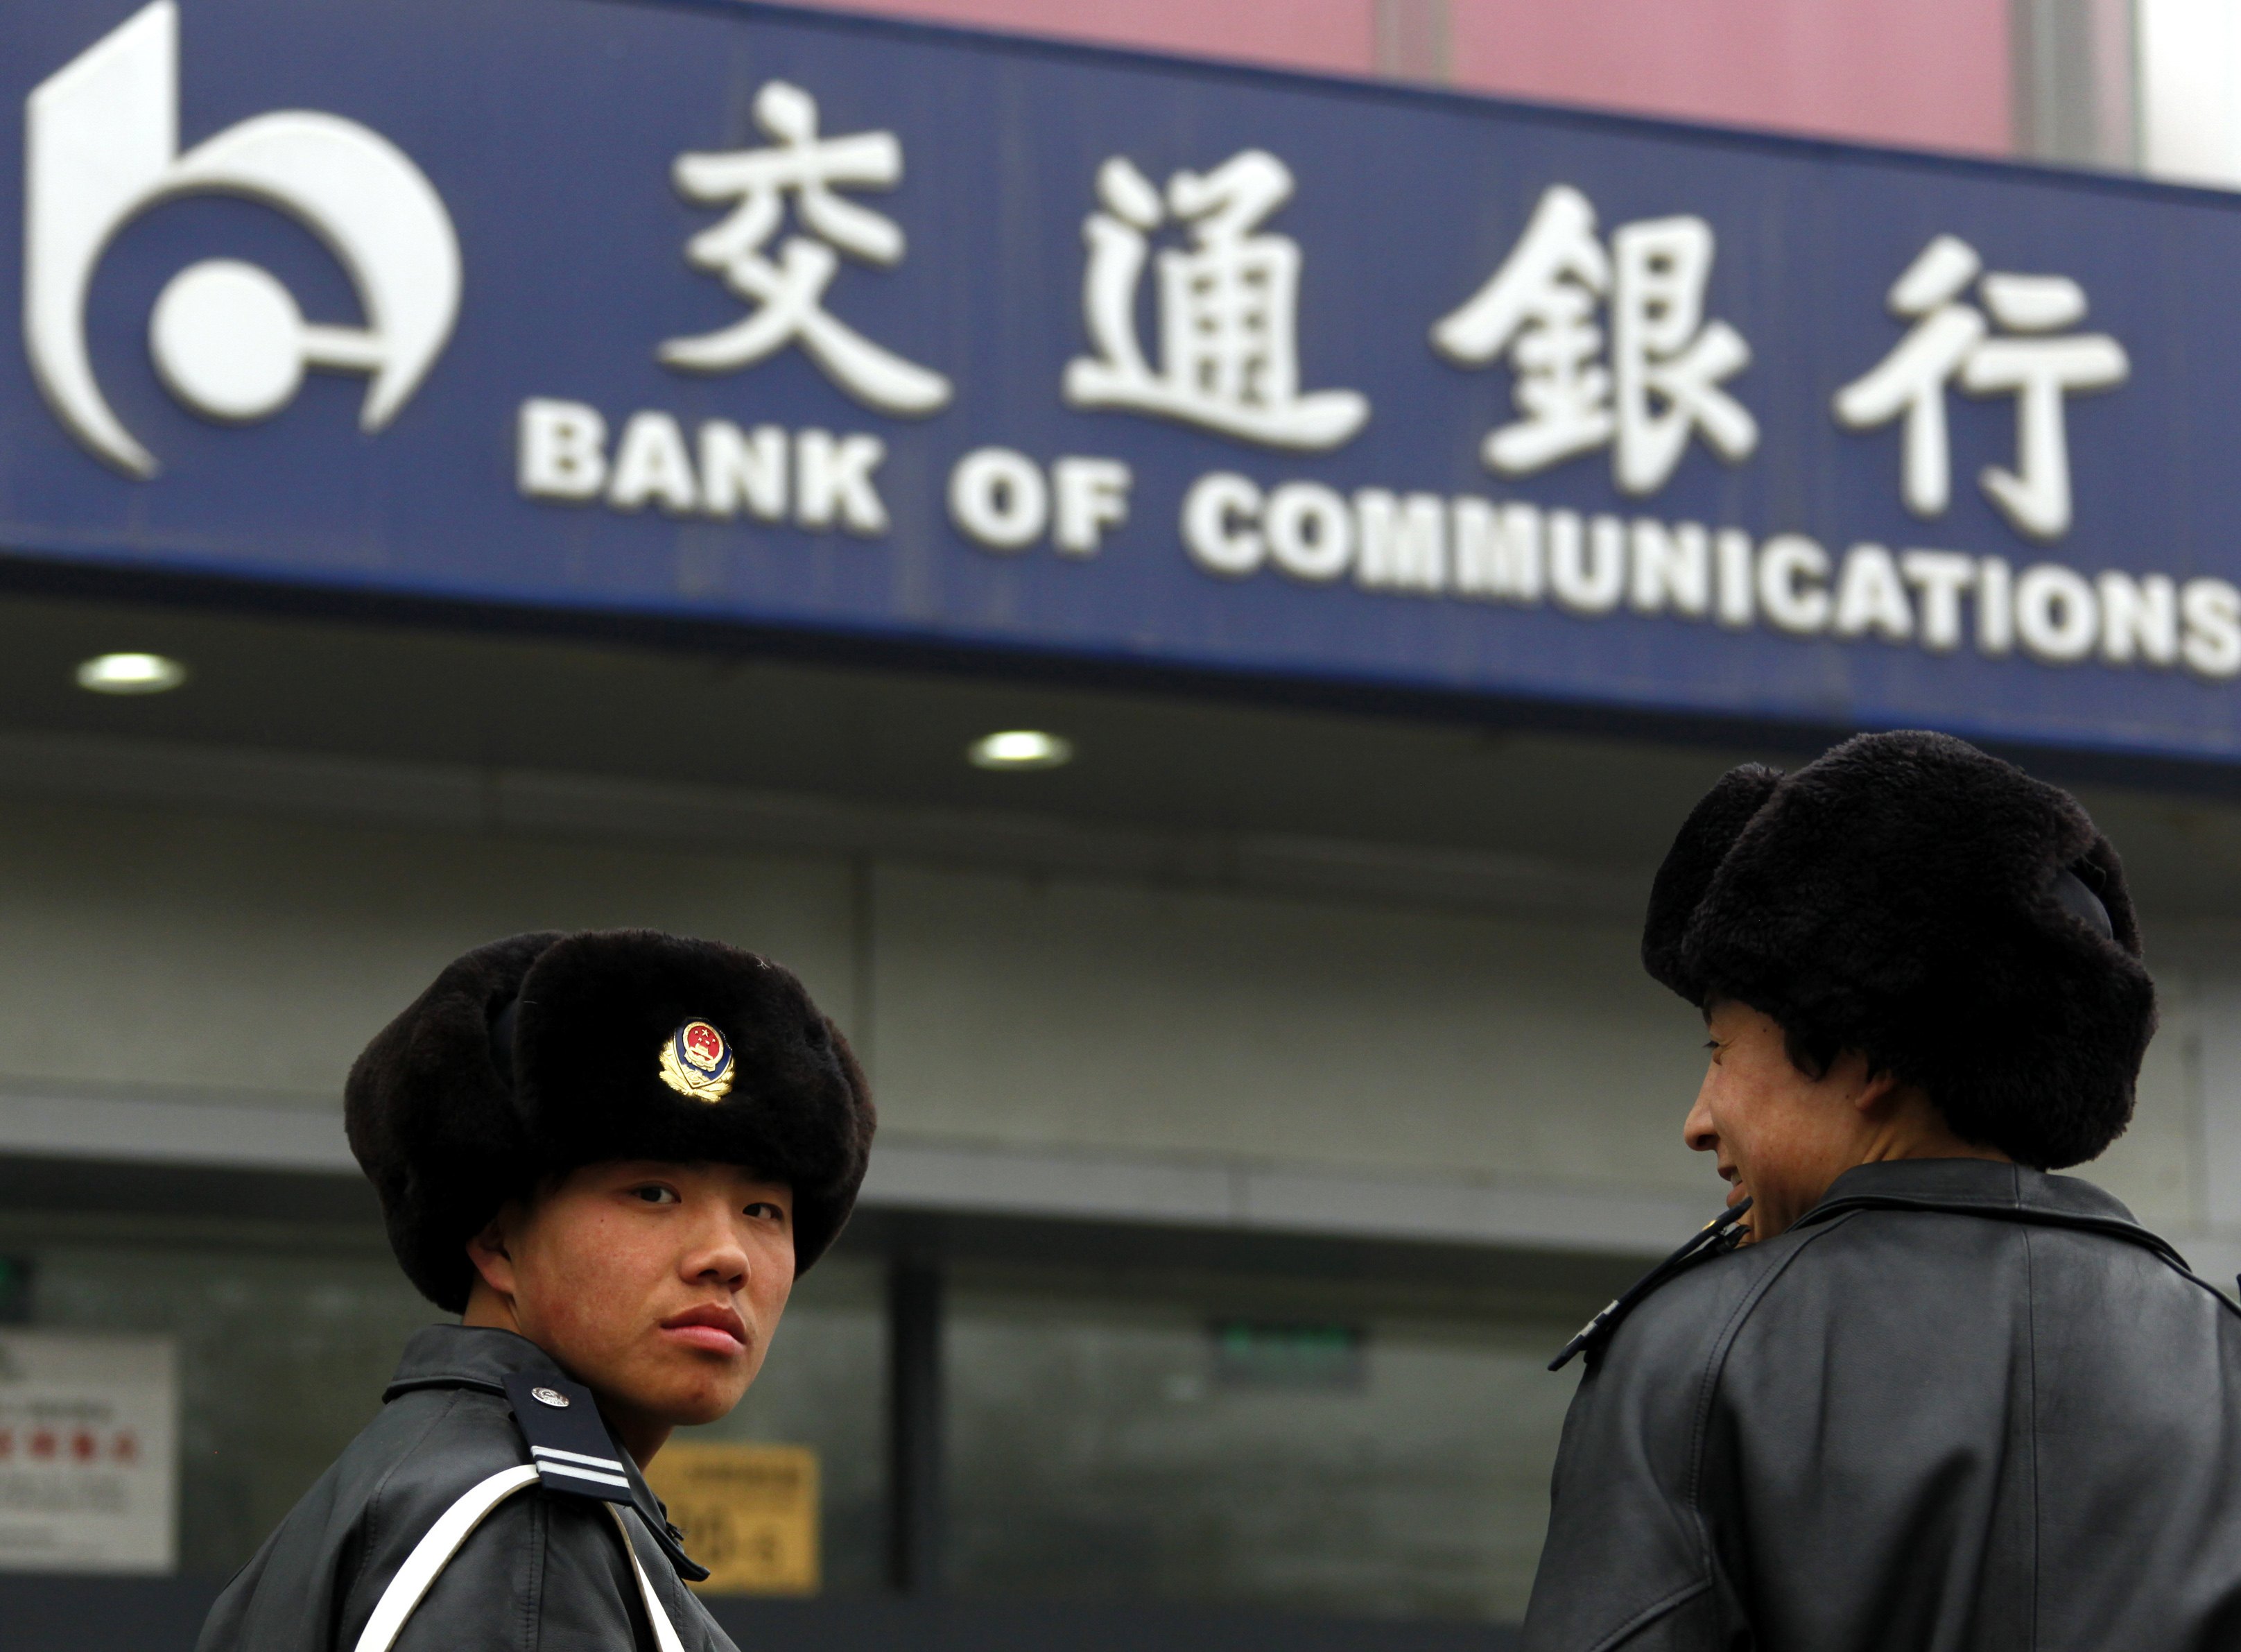
[{"label": "grey wall panel left of the seam, behind the badged fur hat", "polygon": [[329,1110],[356,1049],[477,941],[650,924],[760,937],[847,1015],[847,867],[269,820],[0,809],[16,1089]]}]

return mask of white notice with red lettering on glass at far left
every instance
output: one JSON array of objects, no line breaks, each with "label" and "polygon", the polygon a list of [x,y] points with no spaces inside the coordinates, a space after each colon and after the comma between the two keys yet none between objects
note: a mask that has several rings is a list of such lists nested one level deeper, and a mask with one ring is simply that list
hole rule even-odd
[{"label": "white notice with red lettering on glass at far left", "polygon": [[170,1571],[177,1441],[170,1340],[0,1331],[0,1571]]}]

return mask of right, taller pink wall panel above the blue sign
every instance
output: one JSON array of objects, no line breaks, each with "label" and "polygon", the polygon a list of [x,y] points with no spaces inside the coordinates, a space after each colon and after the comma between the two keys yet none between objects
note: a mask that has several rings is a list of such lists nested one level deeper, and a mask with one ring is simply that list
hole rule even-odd
[{"label": "right, taller pink wall panel above the blue sign", "polygon": [[1452,0],[1484,92],[2006,155],[2008,0]]}]

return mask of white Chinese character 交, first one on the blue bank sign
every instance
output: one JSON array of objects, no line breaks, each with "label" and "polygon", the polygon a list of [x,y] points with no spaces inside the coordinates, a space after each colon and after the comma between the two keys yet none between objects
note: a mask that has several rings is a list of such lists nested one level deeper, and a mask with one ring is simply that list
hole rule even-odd
[{"label": "white Chinese character \u4ea4, first one on the blue bank sign", "polygon": [[[769,148],[679,155],[675,179],[688,199],[733,204],[724,220],[686,242],[686,258],[757,307],[719,332],[670,338],[661,361],[690,372],[735,372],[798,343],[870,408],[941,410],[950,401],[946,377],[872,343],[825,309],[840,253],[870,264],[903,258],[903,231],[894,220],[838,193],[894,188],[903,177],[903,146],[894,132],[818,137],[816,99],[784,81],[755,94],[755,123],[773,139]],[[807,233],[789,235],[771,258],[766,249],[784,224],[789,199]]]}]

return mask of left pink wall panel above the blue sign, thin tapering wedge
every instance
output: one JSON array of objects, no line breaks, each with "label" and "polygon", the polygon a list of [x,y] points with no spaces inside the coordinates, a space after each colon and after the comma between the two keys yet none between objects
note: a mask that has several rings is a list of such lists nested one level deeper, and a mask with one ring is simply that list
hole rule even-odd
[{"label": "left pink wall panel above the blue sign, thin tapering wedge", "polygon": [[1376,0],[843,0],[834,9],[1351,74],[1371,67],[1376,40]]}]

